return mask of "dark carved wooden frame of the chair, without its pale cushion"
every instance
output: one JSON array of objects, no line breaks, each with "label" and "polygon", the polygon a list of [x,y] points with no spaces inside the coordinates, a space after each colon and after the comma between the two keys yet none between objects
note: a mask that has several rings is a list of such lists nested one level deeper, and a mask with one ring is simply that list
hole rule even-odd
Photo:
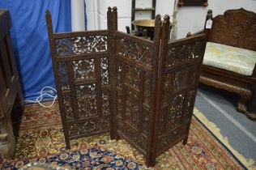
[{"label": "dark carved wooden frame of the chair, without its pale cushion", "polygon": [[[205,28],[207,41],[256,51],[256,14],[254,12],[241,8],[225,11],[224,15],[212,18],[212,11],[209,10],[206,22],[208,19],[212,19],[213,22],[211,29]],[[237,102],[237,110],[245,113],[250,119],[256,119],[256,113],[248,113],[245,105],[256,93],[256,66],[251,76],[245,76],[203,65],[200,82],[237,93],[241,96]]]}]

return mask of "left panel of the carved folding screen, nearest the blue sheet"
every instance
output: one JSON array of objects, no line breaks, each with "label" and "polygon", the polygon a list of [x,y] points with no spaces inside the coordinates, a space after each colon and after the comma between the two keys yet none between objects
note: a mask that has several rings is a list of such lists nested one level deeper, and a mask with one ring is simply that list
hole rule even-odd
[{"label": "left panel of the carved folding screen, nearest the blue sheet", "polygon": [[108,31],[53,33],[46,11],[66,147],[110,129]]}]

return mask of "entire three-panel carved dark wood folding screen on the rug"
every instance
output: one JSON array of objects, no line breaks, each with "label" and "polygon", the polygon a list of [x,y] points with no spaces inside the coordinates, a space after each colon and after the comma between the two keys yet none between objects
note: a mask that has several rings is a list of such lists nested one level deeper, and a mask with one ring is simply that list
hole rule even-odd
[{"label": "entire three-panel carved dark wood folding screen on the rug", "polygon": [[66,147],[70,139],[110,130],[146,155],[147,166],[188,138],[204,35],[169,43],[169,17],[156,16],[154,40],[108,30],[53,33],[46,12]]}]

